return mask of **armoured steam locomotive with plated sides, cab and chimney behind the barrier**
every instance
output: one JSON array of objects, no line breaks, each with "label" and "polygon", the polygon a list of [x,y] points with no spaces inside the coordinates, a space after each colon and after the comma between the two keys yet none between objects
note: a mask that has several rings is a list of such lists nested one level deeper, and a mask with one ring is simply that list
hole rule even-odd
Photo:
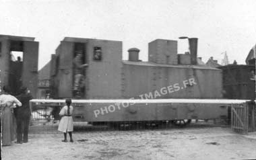
[{"label": "armoured steam locomotive with plated sides, cab and chimney behind the barrier", "polygon": [[[122,61],[122,42],[64,38],[52,54],[51,89],[55,99],[221,99],[222,71],[199,65],[197,38],[189,38],[190,53],[177,54],[176,40],[149,43],[149,61],[139,61],[139,49],[129,49]],[[88,67],[83,85],[74,93],[73,59],[82,53]],[[114,110],[115,108],[115,110]],[[115,111],[115,112],[113,112]],[[86,122],[161,122],[187,124],[191,119],[225,118],[228,109],[216,104],[86,104],[75,108],[74,120]]]}]

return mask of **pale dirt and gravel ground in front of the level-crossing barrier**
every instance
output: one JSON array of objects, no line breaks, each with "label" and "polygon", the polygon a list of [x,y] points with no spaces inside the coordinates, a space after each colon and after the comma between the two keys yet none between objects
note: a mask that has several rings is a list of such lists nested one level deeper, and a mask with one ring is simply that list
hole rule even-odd
[{"label": "pale dirt and gravel ground in front of the level-crossing barrier", "polygon": [[2,159],[256,159],[256,132],[236,134],[227,127],[166,130],[29,134],[29,142],[2,147]]}]

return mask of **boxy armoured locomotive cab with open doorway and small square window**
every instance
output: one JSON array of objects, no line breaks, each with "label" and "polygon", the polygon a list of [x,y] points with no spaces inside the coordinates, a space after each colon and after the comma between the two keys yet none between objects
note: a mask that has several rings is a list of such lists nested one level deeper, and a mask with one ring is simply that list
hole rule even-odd
[{"label": "boxy armoured locomotive cab with open doorway and small square window", "polygon": [[[65,37],[55,53],[51,59],[51,90],[55,99],[121,98],[120,41]],[[80,64],[86,65],[79,72],[79,87],[75,86],[74,64],[78,53],[82,54]]]}]

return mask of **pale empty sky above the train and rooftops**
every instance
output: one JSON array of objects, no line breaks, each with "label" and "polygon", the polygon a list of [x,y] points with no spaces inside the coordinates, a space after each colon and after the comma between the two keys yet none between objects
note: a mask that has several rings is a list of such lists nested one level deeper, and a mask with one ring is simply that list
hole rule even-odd
[{"label": "pale empty sky above the train and rooftops", "polygon": [[255,0],[0,0],[0,34],[35,37],[39,45],[38,69],[55,54],[65,36],[120,40],[123,59],[129,48],[139,48],[148,61],[148,43],[178,40],[178,53],[187,40],[199,38],[198,56],[214,56],[245,64],[256,44]]}]

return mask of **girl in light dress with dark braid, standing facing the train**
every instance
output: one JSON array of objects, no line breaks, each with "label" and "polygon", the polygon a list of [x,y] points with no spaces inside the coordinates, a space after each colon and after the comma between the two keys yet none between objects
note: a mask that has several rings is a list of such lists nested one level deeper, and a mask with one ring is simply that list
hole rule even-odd
[{"label": "girl in light dress with dark braid, standing facing the train", "polygon": [[72,132],[73,132],[73,106],[71,106],[71,99],[66,99],[66,106],[61,109],[59,115],[61,117],[61,121],[59,122],[58,130],[64,133],[63,142],[67,142],[67,132],[69,132],[70,142],[73,143]]}]

